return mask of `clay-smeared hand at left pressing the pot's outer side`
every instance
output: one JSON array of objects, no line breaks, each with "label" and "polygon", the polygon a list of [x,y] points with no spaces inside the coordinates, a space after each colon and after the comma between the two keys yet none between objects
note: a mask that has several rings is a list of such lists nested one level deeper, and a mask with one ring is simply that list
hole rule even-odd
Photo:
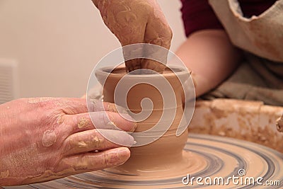
[{"label": "clay-smeared hand at left pressing the pot's outer side", "polygon": [[116,112],[113,104],[92,103],[92,123],[81,98],[27,98],[0,105],[0,185],[49,181],[123,164],[129,149],[104,139],[93,126],[105,127],[103,134],[120,144],[134,144],[127,132],[112,130],[114,124],[134,130],[134,123]]}]

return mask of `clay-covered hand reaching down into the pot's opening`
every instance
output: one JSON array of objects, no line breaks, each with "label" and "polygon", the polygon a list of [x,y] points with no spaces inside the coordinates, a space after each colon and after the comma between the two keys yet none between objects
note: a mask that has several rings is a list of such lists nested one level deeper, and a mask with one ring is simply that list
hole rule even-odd
[{"label": "clay-covered hand reaching down into the pot's opening", "polygon": [[[105,25],[116,35],[122,46],[151,43],[170,48],[171,28],[156,0],[92,1],[100,10]],[[128,71],[145,68],[161,72],[165,69],[163,64],[149,59],[129,60],[126,62],[126,67]]]}]

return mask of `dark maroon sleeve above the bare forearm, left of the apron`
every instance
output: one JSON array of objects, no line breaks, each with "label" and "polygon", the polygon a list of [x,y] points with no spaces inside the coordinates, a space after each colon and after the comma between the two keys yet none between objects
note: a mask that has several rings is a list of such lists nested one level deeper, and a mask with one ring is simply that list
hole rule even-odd
[{"label": "dark maroon sleeve above the bare forearm, left of the apron", "polygon": [[197,30],[223,28],[208,0],[181,1],[183,4],[181,12],[186,36]]}]

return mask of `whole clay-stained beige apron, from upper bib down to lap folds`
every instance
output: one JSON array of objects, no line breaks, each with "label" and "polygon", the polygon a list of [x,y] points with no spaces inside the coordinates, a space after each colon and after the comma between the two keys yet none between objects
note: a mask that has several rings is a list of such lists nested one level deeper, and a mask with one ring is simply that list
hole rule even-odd
[{"label": "whole clay-stained beige apron, from upper bib down to lap folds", "polygon": [[243,17],[237,0],[209,0],[233,45],[246,61],[204,99],[238,98],[283,105],[283,0],[260,16]]}]

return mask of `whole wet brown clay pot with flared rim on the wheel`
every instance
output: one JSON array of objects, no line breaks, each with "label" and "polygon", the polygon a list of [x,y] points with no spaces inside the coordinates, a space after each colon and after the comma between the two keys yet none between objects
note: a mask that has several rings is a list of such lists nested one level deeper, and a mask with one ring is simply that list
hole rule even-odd
[{"label": "whole wet brown clay pot with flared rim on the wheel", "polygon": [[[173,73],[173,71],[175,73]],[[129,110],[131,110],[132,113],[140,113],[141,110],[149,111],[144,107],[144,109],[141,108],[141,101],[144,98],[149,98],[152,101],[153,109],[151,114],[146,120],[137,122],[135,132],[143,132],[154,127],[163,113],[163,101],[175,101],[175,103],[171,103],[172,107],[169,107],[175,110],[175,116],[172,114],[166,115],[166,118],[161,120],[161,124],[164,127],[154,132],[141,134],[141,136],[135,137],[135,139],[137,140],[137,144],[139,144],[139,141],[143,141],[144,139],[150,140],[152,137],[158,136],[158,134],[164,132],[166,127],[169,127],[165,134],[150,144],[140,147],[131,147],[129,160],[122,166],[110,168],[108,171],[123,175],[139,176],[139,178],[144,176],[145,179],[162,178],[164,176],[183,176],[187,173],[188,168],[191,166],[188,157],[190,156],[190,152],[183,151],[183,148],[187,142],[188,132],[187,129],[185,129],[185,132],[177,137],[176,130],[183,117],[184,90],[181,82],[184,83],[189,79],[190,74],[185,69],[176,68],[173,71],[166,69],[161,76],[160,74],[127,74],[125,67],[118,67],[114,70],[110,68],[96,70],[96,77],[100,84],[103,85],[103,101],[120,105],[114,101],[114,94],[118,82],[125,74],[127,74],[127,76],[123,78],[120,84],[127,85],[128,81],[134,84],[134,86],[129,89],[127,97],[125,97],[127,98]],[[163,87],[163,85],[166,85],[164,78],[168,81],[167,84],[170,84],[173,88],[175,100],[163,99],[163,96],[156,87],[146,84],[146,81],[154,80],[158,83],[158,86]],[[173,120],[173,122],[171,122],[171,120]],[[187,127],[187,125],[188,123],[184,127]],[[200,166],[205,165],[200,164]]]}]

